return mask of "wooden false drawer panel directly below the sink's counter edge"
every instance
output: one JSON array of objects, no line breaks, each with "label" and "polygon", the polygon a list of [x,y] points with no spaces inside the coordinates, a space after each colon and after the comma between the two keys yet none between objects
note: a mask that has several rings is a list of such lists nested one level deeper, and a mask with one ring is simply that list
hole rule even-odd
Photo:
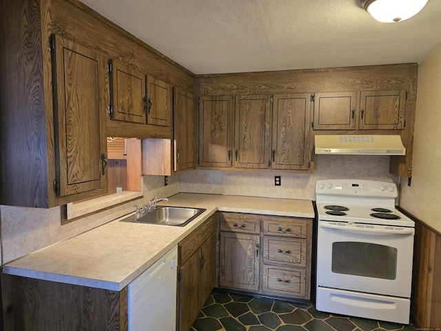
[{"label": "wooden false drawer panel directly below the sink's counter edge", "polygon": [[196,230],[188,235],[181,243],[179,243],[179,263],[182,265],[193,254],[193,252],[201,246],[203,241],[212,233],[216,232],[218,214],[209,217],[205,223],[200,225]]}]

